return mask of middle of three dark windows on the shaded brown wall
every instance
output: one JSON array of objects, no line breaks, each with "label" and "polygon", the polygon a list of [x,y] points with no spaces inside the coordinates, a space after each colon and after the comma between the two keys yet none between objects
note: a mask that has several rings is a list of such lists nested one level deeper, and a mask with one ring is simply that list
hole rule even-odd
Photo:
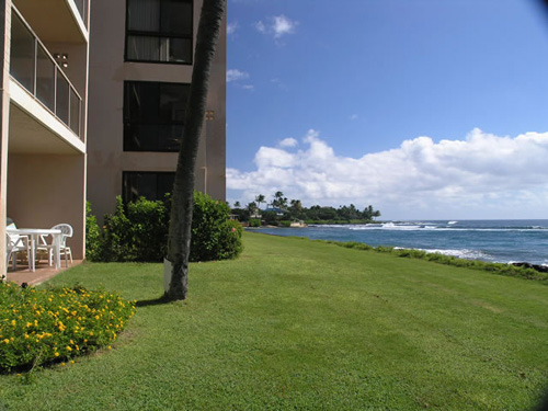
[{"label": "middle of three dark windows on the shaded brown wall", "polygon": [[124,151],[179,151],[190,84],[124,82]]}]

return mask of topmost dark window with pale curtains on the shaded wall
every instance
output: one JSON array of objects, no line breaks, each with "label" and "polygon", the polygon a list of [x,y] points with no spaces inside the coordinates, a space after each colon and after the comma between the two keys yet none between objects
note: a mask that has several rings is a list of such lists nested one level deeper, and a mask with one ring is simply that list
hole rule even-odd
[{"label": "topmost dark window with pale curtains on the shaded wall", "polygon": [[126,60],[192,64],[192,0],[127,0]]}]

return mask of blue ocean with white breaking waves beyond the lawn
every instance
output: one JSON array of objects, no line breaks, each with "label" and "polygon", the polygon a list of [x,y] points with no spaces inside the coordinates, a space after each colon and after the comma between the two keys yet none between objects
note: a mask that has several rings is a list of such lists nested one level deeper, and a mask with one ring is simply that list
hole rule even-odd
[{"label": "blue ocean with white breaking waves beyond the lawn", "polygon": [[425,220],[249,229],[275,236],[358,241],[489,262],[548,265],[548,219]]}]

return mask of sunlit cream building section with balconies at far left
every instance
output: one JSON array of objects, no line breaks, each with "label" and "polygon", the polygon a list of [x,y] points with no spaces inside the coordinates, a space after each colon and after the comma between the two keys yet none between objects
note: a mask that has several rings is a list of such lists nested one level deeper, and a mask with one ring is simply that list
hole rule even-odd
[{"label": "sunlit cream building section with balconies at far left", "polygon": [[89,0],[0,5],[0,275],[8,217],[75,230],[84,254]]}]

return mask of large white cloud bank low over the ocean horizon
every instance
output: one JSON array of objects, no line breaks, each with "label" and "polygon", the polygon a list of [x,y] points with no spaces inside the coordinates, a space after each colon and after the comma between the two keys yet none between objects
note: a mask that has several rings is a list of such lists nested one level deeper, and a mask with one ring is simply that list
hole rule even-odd
[{"label": "large white cloud bank low over the ocean horizon", "polygon": [[[391,218],[541,218],[548,201],[548,133],[499,137],[476,128],[464,140],[406,140],[362,157],[338,156],[309,130],[304,149],[261,147],[256,169],[227,170],[236,199],[283,191],[304,204],[373,204]],[[251,201],[251,199],[250,199]]]}]

